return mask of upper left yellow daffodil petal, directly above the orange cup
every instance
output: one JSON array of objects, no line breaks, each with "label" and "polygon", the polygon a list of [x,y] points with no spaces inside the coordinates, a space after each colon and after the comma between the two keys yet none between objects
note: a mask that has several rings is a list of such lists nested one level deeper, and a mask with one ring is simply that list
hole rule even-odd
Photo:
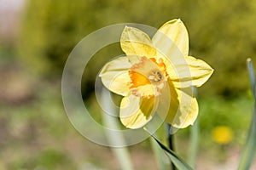
[{"label": "upper left yellow daffodil petal, directly above the orange cup", "polygon": [[152,41],[148,35],[137,28],[125,26],[120,44],[132,64],[137,63],[140,57],[153,57],[156,54]]}]

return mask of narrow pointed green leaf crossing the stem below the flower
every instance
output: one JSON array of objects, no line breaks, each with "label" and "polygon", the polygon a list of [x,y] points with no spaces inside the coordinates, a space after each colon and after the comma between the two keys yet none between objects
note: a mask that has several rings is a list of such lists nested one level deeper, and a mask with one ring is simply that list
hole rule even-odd
[{"label": "narrow pointed green leaf crossing the stem below the flower", "polygon": [[[154,138],[154,136],[153,136],[153,138]],[[166,153],[166,156],[168,156],[170,158],[170,160],[175,165],[175,167],[177,167],[177,169],[193,170],[193,168],[189,167],[189,165],[186,162],[184,162],[179,156],[177,156],[177,154],[174,151],[166,148],[166,146],[164,144],[161,144],[158,139],[156,139],[156,138],[154,138],[154,139],[160,145],[160,147],[164,150],[164,152]]]}]

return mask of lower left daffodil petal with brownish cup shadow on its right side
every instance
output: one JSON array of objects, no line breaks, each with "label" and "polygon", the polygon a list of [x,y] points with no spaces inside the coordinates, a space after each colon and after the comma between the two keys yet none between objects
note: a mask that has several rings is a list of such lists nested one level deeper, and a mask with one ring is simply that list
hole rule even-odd
[{"label": "lower left daffodil petal with brownish cup shadow on its right side", "polygon": [[120,104],[120,120],[125,127],[140,128],[154,116],[158,100],[156,98],[139,98],[135,95],[124,97]]}]

